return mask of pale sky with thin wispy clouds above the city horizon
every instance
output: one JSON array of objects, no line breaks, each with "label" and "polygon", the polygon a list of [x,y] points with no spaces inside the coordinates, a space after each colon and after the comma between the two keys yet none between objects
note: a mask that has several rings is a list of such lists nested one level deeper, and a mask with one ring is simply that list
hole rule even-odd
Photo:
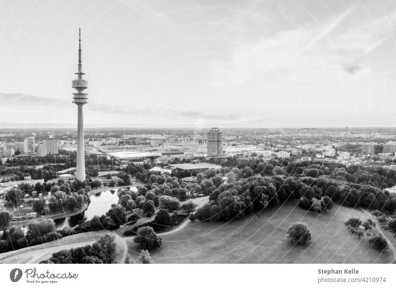
[{"label": "pale sky with thin wispy clouds above the city horizon", "polygon": [[396,126],[394,0],[0,2],[0,125]]}]

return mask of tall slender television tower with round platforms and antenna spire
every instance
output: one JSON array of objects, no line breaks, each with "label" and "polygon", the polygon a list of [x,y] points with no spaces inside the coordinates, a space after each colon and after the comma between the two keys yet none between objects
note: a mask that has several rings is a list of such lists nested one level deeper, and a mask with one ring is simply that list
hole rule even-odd
[{"label": "tall slender television tower with round platforms and antenna spire", "polygon": [[79,29],[79,46],[78,46],[78,72],[77,79],[72,81],[72,88],[77,90],[73,93],[73,103],[78,108],[78,123],[77,123],[77,179],[85,181],[85,158],[84,158],[84,118],[83,106],[87,103],[87,95],[83,93],[88,88],[88,82],[83,79],[83,65],[81,64],[81,28]]}]

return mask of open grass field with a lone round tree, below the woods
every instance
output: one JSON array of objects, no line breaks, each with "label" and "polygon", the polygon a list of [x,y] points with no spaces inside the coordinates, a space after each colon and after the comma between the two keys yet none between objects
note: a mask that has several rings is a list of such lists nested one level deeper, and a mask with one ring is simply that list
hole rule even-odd
[{"label": "open grass field with a lone round tree, below the woods", "polygon": [[[245,225],[247,218],[257,216]],[[358,209],[335,205],[319,215],[297,207],[297,201],[255,211],[231,222],[194,222],[162,237],[162,247],[150,251],[155,263],[390,263],[392,252],[370,248],[367,239],[350,234],[343,222],[367,218]],[[251,218],[250,218],[251,219]],[[305,246],[286,238],[288,227],[304,222],[312,234]],[[233,233],[234,232],[234,233]],[[128,240],[129,255],[138,244]]]}]

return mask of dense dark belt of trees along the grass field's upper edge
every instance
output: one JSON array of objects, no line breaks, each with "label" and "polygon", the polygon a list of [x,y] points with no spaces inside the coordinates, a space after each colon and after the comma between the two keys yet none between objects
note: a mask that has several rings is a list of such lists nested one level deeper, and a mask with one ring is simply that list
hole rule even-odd
[{"label": "dense dark belt of trees along the grass field's upper edge", "polygon": [[210,193],[209,204],[198,209],[195,218],[231,220],[289,198],[300,199],[301,207],[318,212],[328,209],[333,201],[352,207],[378,209],[391,215],[396,212],[396,195],[382,191],[395,185],[395,171],[362,165],[347,168],[336,162],[290,160],[263,162],[257,158],[246,158],[238,161],[227,174],[228,183],[221,184]]}]

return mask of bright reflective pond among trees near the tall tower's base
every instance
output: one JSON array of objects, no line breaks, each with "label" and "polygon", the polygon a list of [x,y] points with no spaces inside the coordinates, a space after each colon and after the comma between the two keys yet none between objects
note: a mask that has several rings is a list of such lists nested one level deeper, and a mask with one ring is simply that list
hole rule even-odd
[{"label": "bright reflective pond among trees near the tall tower's base", "polygon": [[[131,187],[130,190],[137,191],[136,187]],[[92,195],[91,203],[87,210],[77,214],[75,216],[55,220],[56,229],[62,229],[63,227],[76,227],[85,220],[91,220],[95,215],[103,215],[109,209],[111,204],[118,203],[117,190],[107,190],[98,194]]]}]

